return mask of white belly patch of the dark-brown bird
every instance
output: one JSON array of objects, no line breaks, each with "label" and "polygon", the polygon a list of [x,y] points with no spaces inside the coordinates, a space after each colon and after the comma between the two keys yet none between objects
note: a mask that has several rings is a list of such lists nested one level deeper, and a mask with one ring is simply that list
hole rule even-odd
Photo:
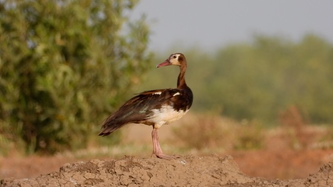
[{"label": "white belly patch of the dark-brown bird", "polygon": [[163,124],[170,124],[183,117],[188,110],[176,111],[171,105],[162,105],[160,109],[152,109],[153,115],[149,121],[156,124],[155,128],[160,128]]}]

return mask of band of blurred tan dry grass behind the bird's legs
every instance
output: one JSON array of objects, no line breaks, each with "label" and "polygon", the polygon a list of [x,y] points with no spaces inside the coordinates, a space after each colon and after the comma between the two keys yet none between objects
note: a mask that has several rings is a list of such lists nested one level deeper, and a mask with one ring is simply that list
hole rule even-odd
[{"label": "band of blurred tan dry grass behind the bird's legs", "polygon": [[[291,117],[288,119],[292,120]],[[151,126],[130,124],[123,127],[121,131],[123,139],[119,145],[100,147],[94,144],[88,149],[58,154],[72,158],[121,158],[123,155],[149,157],[151,155]],[[246,150],[331,149],[333,147],[331,126],[280,125],[267,129],[257,121],[237,122],[210,113],[188,113],[174,124],[164,125],[158,131],[158,135],[162,150],[166,154],[209,155]],[[302,146],[298,146],[299,142],[302,142]]]}]

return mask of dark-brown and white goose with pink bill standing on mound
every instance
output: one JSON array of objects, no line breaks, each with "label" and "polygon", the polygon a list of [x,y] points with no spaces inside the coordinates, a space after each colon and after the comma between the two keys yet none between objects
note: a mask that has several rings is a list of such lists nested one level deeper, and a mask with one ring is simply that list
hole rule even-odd
[{"label": "dark-brown and white goose with pink bill standing on mound", "polygon": [[158,129],[164,124],[170,124],[183,117],[191,108],[193,92],[185,82],[187,62],[184,54],[174,53],[156,68],[179,66],[176,88],[155,89],[143,91],[125,102],[117,111],[105,119],[99,136],[107,136],[129,123],[142,123],[153,127],[153,155],[170,160],[162,152],[158,142]]}]

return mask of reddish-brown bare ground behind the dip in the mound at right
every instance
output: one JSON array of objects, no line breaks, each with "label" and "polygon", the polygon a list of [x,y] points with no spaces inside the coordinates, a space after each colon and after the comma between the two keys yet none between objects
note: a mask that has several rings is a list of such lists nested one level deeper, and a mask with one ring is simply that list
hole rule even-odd
[{"label": "reddish-brown bare ground behind the dip in the mound at right", "polygon": [[231,153],[241,171],[252,177],[300,179],[333,160],[330,150],[241,151]]}]

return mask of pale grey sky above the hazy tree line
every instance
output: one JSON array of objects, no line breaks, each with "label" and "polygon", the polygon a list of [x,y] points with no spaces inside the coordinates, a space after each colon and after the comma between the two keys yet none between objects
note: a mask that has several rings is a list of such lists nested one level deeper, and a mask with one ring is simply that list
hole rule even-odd
[{"label": "pale grey sky above the hazy tree line", "polygon": [[130,16],[142,14],[153,51],[213,51],[254,34],[293,41],[316,34],[333,42],[333,0],[140,0]]}]

